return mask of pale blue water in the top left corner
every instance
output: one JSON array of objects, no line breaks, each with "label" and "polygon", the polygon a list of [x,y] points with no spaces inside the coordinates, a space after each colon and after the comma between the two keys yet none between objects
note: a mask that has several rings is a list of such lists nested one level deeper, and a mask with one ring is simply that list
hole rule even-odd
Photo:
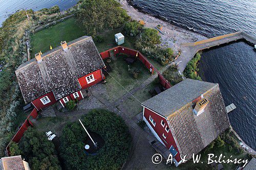
[{"label": "pale blue water in the top left corner", "polygon": [[77,4],[78,0],[0,0],[0,27],[2,22],[17,10],[51,8],[59,6],[60,10],[66,10]]}]

